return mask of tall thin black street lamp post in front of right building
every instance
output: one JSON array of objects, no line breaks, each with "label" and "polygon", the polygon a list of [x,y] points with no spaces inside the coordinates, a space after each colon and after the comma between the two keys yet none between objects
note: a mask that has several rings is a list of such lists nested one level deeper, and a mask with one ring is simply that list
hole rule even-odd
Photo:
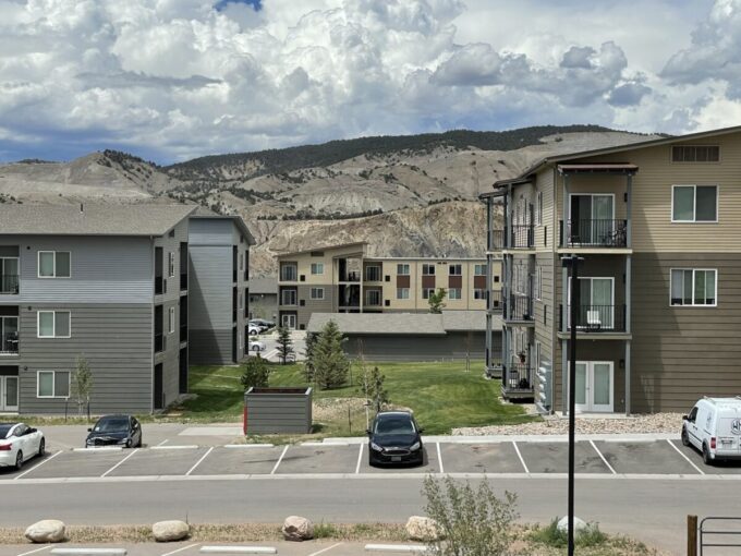
[{"label": "tall thin black street lamp post in front of right building", "polygon": [[569,522],[568,543],[569,556],[574,554],[574,430],[576,427],[576,315],[579,315],[579,264],[584,257],[569,255],[561,258],[563,267],[571,270],[569,331]]}]

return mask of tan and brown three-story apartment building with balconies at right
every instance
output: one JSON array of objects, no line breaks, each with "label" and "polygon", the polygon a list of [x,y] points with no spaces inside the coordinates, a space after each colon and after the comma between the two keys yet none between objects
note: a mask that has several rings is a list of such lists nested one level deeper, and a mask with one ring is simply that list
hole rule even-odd
[{"label": "tan and brown three-story apartment building with balconies at right", "polygon": [[547,158],[482,200],[503,268],[487,367],[506,397],[567,408],[573,254],[578,411],[741,394],[741,128]]}]

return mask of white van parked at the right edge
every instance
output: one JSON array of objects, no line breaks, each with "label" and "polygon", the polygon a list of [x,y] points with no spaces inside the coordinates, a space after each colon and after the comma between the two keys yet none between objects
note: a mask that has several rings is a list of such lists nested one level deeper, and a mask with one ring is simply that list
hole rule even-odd
[{"label": "white van parked at the right edge", "polygon": [[682,444],[701,450],[706,464],[741,459],[741,397],[703,398],[682,419]]}]

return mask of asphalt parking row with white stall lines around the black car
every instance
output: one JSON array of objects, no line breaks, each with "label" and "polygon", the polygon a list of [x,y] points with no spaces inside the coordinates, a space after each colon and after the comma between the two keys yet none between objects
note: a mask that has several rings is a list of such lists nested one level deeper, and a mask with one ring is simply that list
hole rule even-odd
[{"label": "asphalt parking row with white stall lines around the black car", "polygon": [[[359,439],[360,440],[360,439]],[[208,479],[250,476],[363,476],[384,474],[543,476],[568,471],[563,440],[427,442],[421,467],[372,468],[367,444],[305,443],[290,446],[173,444],[138,449],[56,449],[22,471],[0,470],[0,481]],[[741,479],[739,463],[705,466],[680,440],[580,440],[575,471],[582,476]]]}]

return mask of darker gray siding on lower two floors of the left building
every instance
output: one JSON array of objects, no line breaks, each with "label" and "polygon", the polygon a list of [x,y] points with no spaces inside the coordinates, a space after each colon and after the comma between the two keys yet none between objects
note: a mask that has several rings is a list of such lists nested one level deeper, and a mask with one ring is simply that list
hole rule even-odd
[{"label": "darker gray siding on lower two floors of the left building", "polygon": [[[38,310],[70,311],[71,338],[37,338]],[[64,413],[64,400],[37,398],[37,371],[75,368],[81,354],[94,377],[90,412],[151,410],[150,304],[34,303],[20,314],[20,411]],[[27,370],[25,368],[27,367]],[[75,411],[72,403],[70,411]]]}]

